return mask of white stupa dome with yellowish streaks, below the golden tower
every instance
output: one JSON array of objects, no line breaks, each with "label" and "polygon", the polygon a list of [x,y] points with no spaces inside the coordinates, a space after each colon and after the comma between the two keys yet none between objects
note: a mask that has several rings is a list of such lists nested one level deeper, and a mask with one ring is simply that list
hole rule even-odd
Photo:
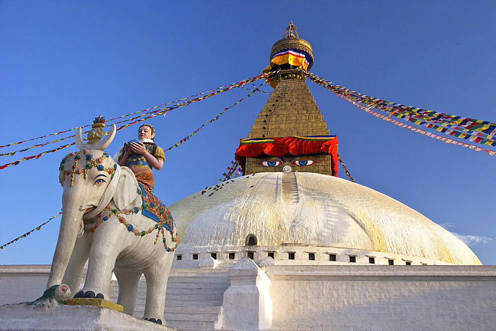
[{"label": "white stupa dome with yellowish streaks, below the golden tower", "polygon": [[254,234],[256,245],[264,247],[303,244],[327,252],[339,248],[481,265],[462,241],[410,207],[363,185],[318,173],[239,177],[169,209],[179,229],[180,249],[242,247],[247,235]]}]

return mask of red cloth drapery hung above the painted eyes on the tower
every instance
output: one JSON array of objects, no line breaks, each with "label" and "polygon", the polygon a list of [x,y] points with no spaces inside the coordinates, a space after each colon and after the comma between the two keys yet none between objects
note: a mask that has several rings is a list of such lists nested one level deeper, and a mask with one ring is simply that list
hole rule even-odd
[{"label": "red cloth drapery hung above the painted eyes on the tower", "polygon": [[235,158],[245,173],[246,158],[325,153],[331,155],[332,172],[337,176],[337,146],[336,136],[246,138],[240,140]]}]

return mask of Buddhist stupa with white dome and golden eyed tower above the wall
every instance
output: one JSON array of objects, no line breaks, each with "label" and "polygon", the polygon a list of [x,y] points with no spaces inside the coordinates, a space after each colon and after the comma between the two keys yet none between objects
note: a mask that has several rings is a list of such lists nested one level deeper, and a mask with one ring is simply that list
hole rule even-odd
[{"label": "Buddhist stupa with white dome and golden eyed tower above the wall", "polygon": [[[180,229],[178,266],[212,255],[234,263],[481,265],[449,231],[371,188],[337,177],[329,135],[299,69],[313,63],[293,23],[271,49],[274,91],[236,159],[244,177],[171,206]],[[255,243],[255,244],[250,244]]]}]

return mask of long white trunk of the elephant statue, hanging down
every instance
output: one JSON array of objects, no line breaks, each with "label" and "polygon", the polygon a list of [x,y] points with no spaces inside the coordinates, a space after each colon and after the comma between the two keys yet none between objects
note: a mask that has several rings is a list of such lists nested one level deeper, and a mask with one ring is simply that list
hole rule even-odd
[{"label": "long white trunk of the elephant statue, hanging down", "polygon": [[[75,190],[74,190],[75,191]],[[62,284],[65,269],[69,263],[74,243],[81,230],[84,210],[80,211],[78,199],[74,191],[62,195],[62,220],[59,231],[59,239],[55,247],[52,269],[48,278],[47,288]]]}]

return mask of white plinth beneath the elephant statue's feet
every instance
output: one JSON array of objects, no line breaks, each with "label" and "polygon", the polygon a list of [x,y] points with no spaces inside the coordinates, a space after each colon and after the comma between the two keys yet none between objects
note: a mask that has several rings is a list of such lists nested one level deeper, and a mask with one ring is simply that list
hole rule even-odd
[{"label": "white plinth beneath the elephant statue's feet", "polygon": [[176,329],[148,322],[106,307],[0,306],[0,330],[157,330]]}]

